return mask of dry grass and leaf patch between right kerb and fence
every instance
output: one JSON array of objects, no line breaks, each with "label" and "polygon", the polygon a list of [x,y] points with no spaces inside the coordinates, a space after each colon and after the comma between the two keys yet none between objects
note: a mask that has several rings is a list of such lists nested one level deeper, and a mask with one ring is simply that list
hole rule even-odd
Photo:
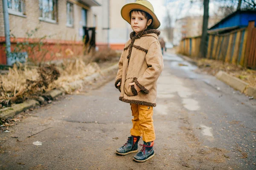
[{"label": "dry grass and leaf patch between right kerb and fence", "polygon": [[209,74],[215,75],[222,70],[230,75],[233,75],[251,86],[256,87],[256,70],[246,69],[240,65],[224,63],[223,61],[201,59],[198,61],[199,68]]}]

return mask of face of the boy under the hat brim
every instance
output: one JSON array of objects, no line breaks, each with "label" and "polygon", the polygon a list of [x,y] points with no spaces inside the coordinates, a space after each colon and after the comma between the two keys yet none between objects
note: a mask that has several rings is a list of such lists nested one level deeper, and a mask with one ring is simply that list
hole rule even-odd
[{"label": "face of the boy under the hat brim", "polygon": [[147,19],[141,14],[140,12],[132,12],[131,13],[131,28],[139,34],[140,32],[143,32],[143,30],[146,28],[147,25]]}]

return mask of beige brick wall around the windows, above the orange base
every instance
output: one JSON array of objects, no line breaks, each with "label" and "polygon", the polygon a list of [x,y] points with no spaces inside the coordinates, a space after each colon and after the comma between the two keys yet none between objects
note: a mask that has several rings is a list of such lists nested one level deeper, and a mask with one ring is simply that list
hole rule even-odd
[{"label": "beige brick wall around the windows, above the orange base", "polygon": [[[67,23],[67,0],[58,0],[58,22],[49,23],[39,20],[39,1],[38,0],[26,0],[26,17],[20,17],[17,15],[9,14],[10,30],[11,34],[16,37],[26,37],[26,32],[38,29],[38,34],[35,37],[42,37],[44,35],[50,35],[49,39],[58,40],[82,40],[81,34],[81,9],[82,7],[73,4],[74,8],[74,26],[72,28],[66,26]],[[0,9],[2,7],[2,1],[0,2]],[[2,10],[1,10],[2,11]],[[87,17],[90,17],[90,11]],[[91,20],[87,20],[88,24],[91,24]],[[0,36],[4,36],[3,27],[3,13],[0,12]]]}]

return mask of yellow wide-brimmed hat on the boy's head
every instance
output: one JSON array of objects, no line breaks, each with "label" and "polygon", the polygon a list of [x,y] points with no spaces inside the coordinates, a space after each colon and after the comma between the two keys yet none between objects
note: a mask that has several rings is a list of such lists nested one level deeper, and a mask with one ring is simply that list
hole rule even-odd
[{"label": "yellow wide-brimmed hat on the boy's head", "polygon": [[158,29],[160,27],[160,21],[158,20],[156,14],[154,13],[154,7],[147,0],[137,0],[135,3],[128,3],[121,9],[121,15],[124,20],[131,24],[130,12],[133,9],[139,9],[144,12],[147,12],[153,18],[153,21],[149,28]]}]

